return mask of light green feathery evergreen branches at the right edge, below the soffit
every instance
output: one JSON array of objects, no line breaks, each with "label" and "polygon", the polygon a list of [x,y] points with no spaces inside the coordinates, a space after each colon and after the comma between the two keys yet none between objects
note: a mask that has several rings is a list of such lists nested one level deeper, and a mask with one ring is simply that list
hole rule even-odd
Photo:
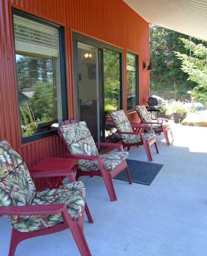
[{"label": "light green feathery evergreen branches at the right edge, below the soffit", "polygon": [[199,43],[195,44],[188,39],[180,38],[184,48],[191,50],[192,55],[182,54],[176,51],[178,59],[181,60],[181,69],[188,74],[188,80],[195,82],[198,86],[191,91],[195,101],[207,104],[207,48]]}]

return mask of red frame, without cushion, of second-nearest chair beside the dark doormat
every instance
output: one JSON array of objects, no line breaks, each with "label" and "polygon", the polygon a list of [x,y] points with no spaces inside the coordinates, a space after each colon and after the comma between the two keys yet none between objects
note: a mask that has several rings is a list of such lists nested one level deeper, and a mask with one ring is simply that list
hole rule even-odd
[{"label": "red frame, without cushion, of second-nearest chair beside the dark doormat", "polygon": [[[76,179],[78,180],[80,176],[91,176],[91,177],[102,176],[105,186],[107,187],[107,191],[108,191],[111,201],[117,201],[116,192],[114,190],[113,177],[118,175],[119,172],[122,172],[122,171],[124,171],[124,169],[126,169],[128,182],[130,184],[132,184],[130,172],[128,171],[127,162],[125,161],[125,159],[123,159],[122,162],[118,166],[116,166],[116,168],[109,170],[109,169],[106,169],[105,165],[103,164],[102,157],[101,157],[102,154],[99,154],[99,155],[71,154],[68,143],[63,136],[63,132],[61,131],[61,127],[66,126],[67,124],[74,124],[74,123],[78,124],[78,122],[75,121],[74,119],[66,120],[63,123],[60,123],[59,129],[58,129],[60,138],[63,141],[63,143],[65,144],[65,149],[66,149],[65,157],[72,157],[72,158],[76,158],[78,160],[86,160],[89,162],[95,161],[99,165],[99,169],[97,171],[94,171],[91,169],[88,169],[87,171],[82,171],[82,169],[77,167]],[[80,123],[83,123],[83,122],[80,122]],[[85,126],[86,126],[86,124],[85,124]],[[114,148],[114,149],[118,149],[118,152],[124,152],[121,144],[96,143],[96,146]]]}]

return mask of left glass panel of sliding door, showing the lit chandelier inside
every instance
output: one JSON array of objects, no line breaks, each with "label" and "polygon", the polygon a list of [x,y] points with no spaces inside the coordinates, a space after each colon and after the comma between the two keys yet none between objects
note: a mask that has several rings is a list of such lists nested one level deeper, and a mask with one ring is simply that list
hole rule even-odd
[{"label": "left glass panel of sliding door, showing the lit chandelier inside", "polygon": [[80,121],[86,121],[94,140],[100,140],[99,134],[99,69],[98,49],[94,46],[77,43],[78,64],[78,110]]}]

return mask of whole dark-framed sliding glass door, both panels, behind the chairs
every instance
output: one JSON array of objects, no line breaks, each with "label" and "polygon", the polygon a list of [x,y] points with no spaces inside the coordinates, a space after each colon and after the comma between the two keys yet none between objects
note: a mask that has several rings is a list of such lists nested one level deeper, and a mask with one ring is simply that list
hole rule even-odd
[{"label": "whole dark-framed sliding glass door, both panels, behind the chairs", "polygon": [[73,33],[75,114],[95,141],[105,140],[105,111],[122,108],[122,51]]}]

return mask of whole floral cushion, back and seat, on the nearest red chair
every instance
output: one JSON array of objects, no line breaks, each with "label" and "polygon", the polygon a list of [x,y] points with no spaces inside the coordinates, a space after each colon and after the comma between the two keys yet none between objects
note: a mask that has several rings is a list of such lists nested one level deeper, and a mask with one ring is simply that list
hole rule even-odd
[{"label": "whole floral cushion, back and seat, on the nearest red chair", "polygon": [[[74,182],[54,190],[37,192],[23,159],[7,141],[0,142],[0,207],[65,203],[72,218],[82,214],[85,205],[85,188]],[[9,216],[20,232],[30,232],[54,226],[62,221],[60,215]]]}]

